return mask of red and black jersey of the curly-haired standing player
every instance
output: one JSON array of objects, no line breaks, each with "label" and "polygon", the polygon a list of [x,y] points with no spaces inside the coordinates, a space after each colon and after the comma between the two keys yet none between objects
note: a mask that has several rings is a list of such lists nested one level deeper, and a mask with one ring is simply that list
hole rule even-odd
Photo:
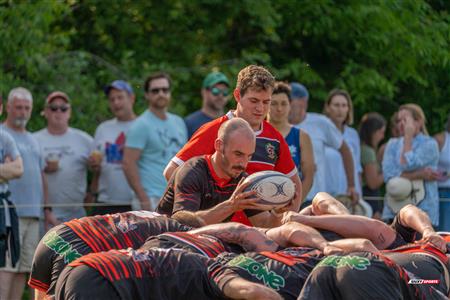
[{"label": "red and black jersey of the curly-haired standing player", "polygon": [[[182,165],[188,159],[213,154],[214,141],[220,125],[234,117],[229,111],[223,117],[204,124],[191,137],[189,142],[172,158],[172,162]],[[275,170],[291,177],[297,174],[297,168],[292,160],[289,146],[283,136],[267,121],[261,123],[261,129],[255,132],[256,149],[251,161],[247,165],[247,173]]]}]

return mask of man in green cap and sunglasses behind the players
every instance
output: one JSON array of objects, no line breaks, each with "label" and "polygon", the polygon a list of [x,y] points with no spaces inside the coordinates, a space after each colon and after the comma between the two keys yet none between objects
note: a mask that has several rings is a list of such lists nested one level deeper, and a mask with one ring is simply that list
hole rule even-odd
[{"label": "man in green cap and sunglasses behind the players", "polygon": [[184,118],[188,130],[188,138],[203,124],[223,116],[223,109],[228,102],[230,82],[221,72],[211,72],[203,80],[202,109]]}]

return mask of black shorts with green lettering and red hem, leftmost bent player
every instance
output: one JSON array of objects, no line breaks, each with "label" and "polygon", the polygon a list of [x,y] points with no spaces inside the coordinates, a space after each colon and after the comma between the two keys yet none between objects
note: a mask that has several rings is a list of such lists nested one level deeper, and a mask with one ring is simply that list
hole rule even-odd
[{"label": "black shorts with green lettering and red hem, leftmost bent player", "polygon": [[36,248],[28,284],[46,294],[53,294],[64,267],[91,252],[92,249],[68,226],[61,224],[52,228]]}]

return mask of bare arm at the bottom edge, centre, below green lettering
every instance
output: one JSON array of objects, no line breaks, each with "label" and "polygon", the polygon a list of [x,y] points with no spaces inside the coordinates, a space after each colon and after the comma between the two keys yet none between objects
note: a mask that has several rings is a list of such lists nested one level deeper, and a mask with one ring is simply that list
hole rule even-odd
[{"label": "bare arm at the bottom edge, centre, below green lettering", "polygon": [[230,299],[282,300],[277,292],[262,284],[235,277],[225,283],[223,293]]}]

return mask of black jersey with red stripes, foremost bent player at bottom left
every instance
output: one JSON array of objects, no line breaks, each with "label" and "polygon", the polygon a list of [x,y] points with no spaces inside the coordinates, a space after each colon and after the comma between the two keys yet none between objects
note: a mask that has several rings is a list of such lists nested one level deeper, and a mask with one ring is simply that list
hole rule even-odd
[{"label": "black jersey with red stripes, foremost bent player at bottom left", "polygon": [[[222,299],[223,294],[208,277],[211,263],[207,257],[178,249],[92,253],[64,270],[57,284],[57,297],[65,299],[67,295],[77,295],[81,299],[82,295],[89,296],[85,291],[96,286],[70,275],[77,268],[88,266],[82,268],[82,272],[95,270],[99,279],[107,280],[114,287],[120,299]],[[83,277],[78,274],[78,278]]]}]

